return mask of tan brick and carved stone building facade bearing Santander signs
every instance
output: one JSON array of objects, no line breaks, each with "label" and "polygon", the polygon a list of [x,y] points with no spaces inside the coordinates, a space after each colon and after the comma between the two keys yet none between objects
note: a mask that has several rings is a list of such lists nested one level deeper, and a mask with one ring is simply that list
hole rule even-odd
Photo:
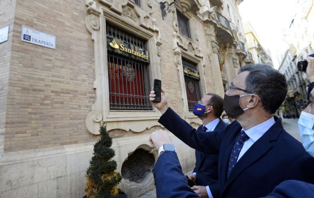
[{"label": "tan brick and carved stone building facade bearing Santander signs", "polygon": [[[113,137],[119,187],[130,198],[154,188],[148,138],[163,127],[148,99],[153,79],[183,119],[201,124],[193,103],[223,96],[253,63],[241,2],[179,0],[163,20],[158,0],[0,1],[0,28],[9,26],[0,44],[1,197],[83,197],[99,122]],[[55,49],[23,42],[25,27],[55,36]],[[191,170],[193,149],[171,138]]]}]

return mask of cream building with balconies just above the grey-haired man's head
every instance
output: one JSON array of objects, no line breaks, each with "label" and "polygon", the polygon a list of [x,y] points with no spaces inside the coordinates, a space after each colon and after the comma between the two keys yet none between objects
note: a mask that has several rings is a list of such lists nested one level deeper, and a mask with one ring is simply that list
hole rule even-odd
[{"label": "cream building with balconies just above the grey-haired man's head", "polygon": [[269,50],[265,50],[260,43],[257,33],[249,22],[243,24],[248,51],[252,54],[255,63],[267,64],[273,66]]}]

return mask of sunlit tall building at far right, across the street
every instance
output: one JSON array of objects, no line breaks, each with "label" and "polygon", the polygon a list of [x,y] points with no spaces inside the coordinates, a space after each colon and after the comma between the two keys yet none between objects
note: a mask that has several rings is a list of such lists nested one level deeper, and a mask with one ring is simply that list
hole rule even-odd
[{"label": "sunlit tall building at far right, across the street", "polygon": [[279,56],[279,71],[288,82],[288,94],[282,105],[286,117],[298,117],[307,106],[306,74],[297,69],[297,63],[314,53],[314,0],[299,0],[295,17],[285,31],[289,48]]}]

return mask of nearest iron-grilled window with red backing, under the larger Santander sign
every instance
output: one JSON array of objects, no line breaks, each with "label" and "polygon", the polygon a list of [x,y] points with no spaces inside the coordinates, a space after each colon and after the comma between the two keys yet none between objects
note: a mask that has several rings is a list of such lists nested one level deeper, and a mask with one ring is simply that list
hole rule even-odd
[{"label": "nearest iron-grilled window with red backing, under the larger Santander sign", "polygon": [[112,47],[123,44],[125,48],[148,55],[146,41],[109,23],[106,35],[110,110],[153,110],[148,96],[149,61]]}]

